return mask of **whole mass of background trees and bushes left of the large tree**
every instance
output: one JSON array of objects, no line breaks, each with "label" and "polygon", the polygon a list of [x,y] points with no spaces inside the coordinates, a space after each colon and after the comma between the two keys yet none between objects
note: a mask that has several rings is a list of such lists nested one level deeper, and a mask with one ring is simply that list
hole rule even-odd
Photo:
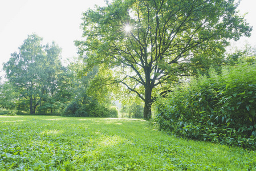
[{"label": "whole mass of background trees and bushes left of the large tree", "polygon": [[4,64],[7,80],[0,84],[0,108],[36,115],[117,117],[110,96],[96,100],[87,93],[97,67],[79,77],[83,60],[74,58],[64,67],[61,51],[54,42],[43,45],[38,35],[29,35]]}]

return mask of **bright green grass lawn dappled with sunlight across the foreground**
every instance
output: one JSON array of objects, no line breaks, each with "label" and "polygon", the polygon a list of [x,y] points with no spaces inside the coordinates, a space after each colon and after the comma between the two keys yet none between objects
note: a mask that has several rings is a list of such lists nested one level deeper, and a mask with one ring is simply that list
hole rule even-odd
[{"label": "bright green grass lawn dappled with sunlight across the foreground", "polygon": [[140,119],[0,116],[0,170],[256,170],[255,154]]}]

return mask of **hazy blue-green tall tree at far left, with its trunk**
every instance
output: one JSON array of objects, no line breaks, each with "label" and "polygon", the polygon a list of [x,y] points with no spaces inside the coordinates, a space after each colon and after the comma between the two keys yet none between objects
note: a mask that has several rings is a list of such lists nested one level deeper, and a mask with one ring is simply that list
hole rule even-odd
[{"label": "hazy blue-green tall tree at far left, with its trunk", "polygon": [[10,60],[4,64],[7,79],[21,93],[19,100],[29,101],[31,114],[57,87],[60,52],[54,43],[43,46],[42,38],[32,34],[24,40],[19,52],[11,54]]}]

